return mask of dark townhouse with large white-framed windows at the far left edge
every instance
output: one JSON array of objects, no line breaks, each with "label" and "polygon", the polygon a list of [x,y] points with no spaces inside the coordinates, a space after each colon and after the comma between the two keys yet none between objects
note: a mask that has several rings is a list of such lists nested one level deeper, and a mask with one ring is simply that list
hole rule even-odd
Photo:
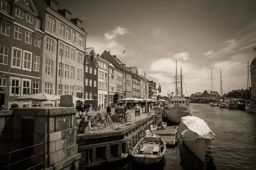
[{"label": "dark townhouse with large white-framed windows at the far left edge", "polygon": [[18,96],[41,92],[41,20],[31,0],[1,0],[0,9],[0,105],[31,106]]}]

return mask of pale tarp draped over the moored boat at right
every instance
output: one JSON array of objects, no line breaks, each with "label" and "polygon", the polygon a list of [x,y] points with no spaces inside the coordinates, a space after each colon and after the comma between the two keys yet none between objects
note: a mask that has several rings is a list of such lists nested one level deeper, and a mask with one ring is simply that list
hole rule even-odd
[{"label": "pale tarp draped over the moored boat at right", "polygon": [[215,139],[215,134],[204,120],[195,116],[185,116],[180,119],[179,133],[183,139],[195,142],[196,139]]}]

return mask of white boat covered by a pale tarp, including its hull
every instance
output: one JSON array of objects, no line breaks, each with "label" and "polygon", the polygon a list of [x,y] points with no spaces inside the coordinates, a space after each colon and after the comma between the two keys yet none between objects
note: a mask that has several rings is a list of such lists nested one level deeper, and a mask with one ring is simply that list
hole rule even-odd
[{"label": "white boat covered by a pale tarp, including its hull", "polygon": [[178,139],[201,161],[204,161],[206,151],[215,139],[215,134],[204,120],[195,116],[181,118],[178,127]]}]

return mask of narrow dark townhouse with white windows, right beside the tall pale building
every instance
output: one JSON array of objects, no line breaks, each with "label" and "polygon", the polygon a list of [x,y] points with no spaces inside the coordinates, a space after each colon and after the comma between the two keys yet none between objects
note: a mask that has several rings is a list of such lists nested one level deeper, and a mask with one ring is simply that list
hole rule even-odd
[{"label": "narrow dark townhouse with white windows, right beside the tall pale building", "polygon": [[[93,48],[86,48],[84,64],[84,104],[90,104],[90,109],[97,106],[98,68],[97,56]],[[98,57],[99,58],[99,57]]]}]

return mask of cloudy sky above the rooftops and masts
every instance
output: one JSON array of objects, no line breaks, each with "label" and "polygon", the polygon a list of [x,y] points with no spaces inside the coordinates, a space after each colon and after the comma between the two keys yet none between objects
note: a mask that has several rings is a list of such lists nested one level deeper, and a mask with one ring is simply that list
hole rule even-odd
[{"label": "cloudy sky above the rooftops and masts", "polygon": [[247,88],[247,61],[256,56],[256,0],[57,1],[83,22],[87,48],[110,51],[139,74],[145,70],[161,95],[175,92],[175,60],[185,96],[211,88],[220,93],[221,78],[223,94]]}]

